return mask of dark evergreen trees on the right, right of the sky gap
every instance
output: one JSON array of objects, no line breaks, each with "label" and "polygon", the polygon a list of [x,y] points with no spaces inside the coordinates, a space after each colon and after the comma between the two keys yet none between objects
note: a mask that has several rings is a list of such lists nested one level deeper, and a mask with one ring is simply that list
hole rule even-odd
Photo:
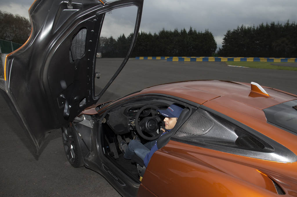
[{"label": "dark evergreen trees on the right, right of the sky gap", "polygon": [[237,27],[224,35],[219,56],[296,57],[297,24],[271,22],[257,27]]}]

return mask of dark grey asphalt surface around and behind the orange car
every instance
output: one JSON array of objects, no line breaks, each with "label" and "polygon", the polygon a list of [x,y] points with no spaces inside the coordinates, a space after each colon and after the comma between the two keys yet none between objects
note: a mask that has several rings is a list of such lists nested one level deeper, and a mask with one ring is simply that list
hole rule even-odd
[{"label": "dark grey asphalt surface around and behind the orange car", "polygon": [[[98,91],[121,59],[97,59]],[[232,80],[297,93],[297,71],[228,67],[224,62],[166,62],[130,59],[101,101],[161,83],[183,80]],[[103,81],[103,82],[102,82]],[[100,87],[101,86],[101,87]],[[62,147],[61,130],[50,133],[39,157],[0,96],[0,196],[120,196],[96,172],[73,168]]]}]

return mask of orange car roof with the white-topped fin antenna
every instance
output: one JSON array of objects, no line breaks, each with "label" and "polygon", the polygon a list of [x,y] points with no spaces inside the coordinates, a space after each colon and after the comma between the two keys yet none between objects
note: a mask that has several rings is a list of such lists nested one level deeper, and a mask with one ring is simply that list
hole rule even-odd
[{"label": "orange car roof with the white-topped fin antenna", "polygon": [[207,101],[256,117],[266,122],[262,109],[297,99],[296,95],[262,86],[269,96],[251,91],[251,84],[221,80],[195,80],[167,83],[146,88],[136,94],[161,93],[198,104]]}]

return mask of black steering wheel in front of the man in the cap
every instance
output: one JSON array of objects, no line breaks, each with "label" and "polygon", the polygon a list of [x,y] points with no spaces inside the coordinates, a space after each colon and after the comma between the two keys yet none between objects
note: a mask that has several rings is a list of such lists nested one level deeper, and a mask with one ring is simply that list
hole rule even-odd
[{"label": "black steering wheel in front of the man in the cap", "polygon": [[[139,119],[141,112],[143,112],[143,110],[148,109],[148,108],[156,110],[156,113],[154,113],[154,111],[151,110],[150,114],[152,114],[152,117],[144,117],[138,123],[138,119]],[[135,128],[136,128],[138,134],[146,140],[155,140],[155,139],[159,138],[161,136],[161,134],[163,133],[161,131],[161,127],[160,127],[160,124],[162,124],[161,123],[162,119],[157,115],[158,109],[159,108],[154,105],[146,105],[146,106],[143,106],[142,108],[140,108],[136,114]],[[157,130],[159,130],[159,133],[157,133]],[[148,137],[148,136],[144,135],[143,134],[144,132],[148,133],[152,137]]]}]

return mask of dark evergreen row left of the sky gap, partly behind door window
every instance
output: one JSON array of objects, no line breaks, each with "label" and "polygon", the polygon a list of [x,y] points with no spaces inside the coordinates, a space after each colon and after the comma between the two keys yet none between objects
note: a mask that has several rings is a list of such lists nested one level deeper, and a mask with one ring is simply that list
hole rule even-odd
[{"label": "dark evergreen row left of the sky gap, partly behind door window", "polygon": [[[112,36],[101,37],[98,52],[102,57],[125,57],[132,36],[132,33],[127,37],[122,34],[117,40]],[[197,32],[190,27],[188,31],[185,28],[168,31],[163,28],[158,34],[138,33],[131,56],[211,56],[216,49],[217,43],[208,30]]]}]

